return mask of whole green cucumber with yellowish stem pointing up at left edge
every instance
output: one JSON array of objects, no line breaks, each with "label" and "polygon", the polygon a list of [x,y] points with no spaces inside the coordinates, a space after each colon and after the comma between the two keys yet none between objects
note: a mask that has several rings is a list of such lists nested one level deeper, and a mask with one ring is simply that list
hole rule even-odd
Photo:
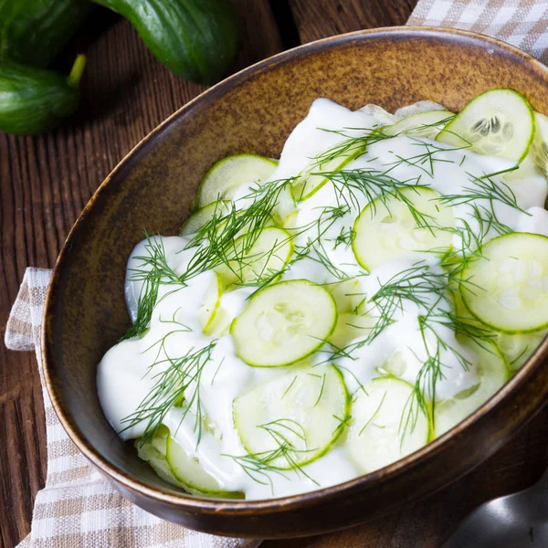
[{"label": "whole green cucumber with yellowish stem pointing up at left edge", "polygon": [[86,58],[76,58],[70,74],[0,62],[0,131],[15,135],[46,132],[76,111]]}]

